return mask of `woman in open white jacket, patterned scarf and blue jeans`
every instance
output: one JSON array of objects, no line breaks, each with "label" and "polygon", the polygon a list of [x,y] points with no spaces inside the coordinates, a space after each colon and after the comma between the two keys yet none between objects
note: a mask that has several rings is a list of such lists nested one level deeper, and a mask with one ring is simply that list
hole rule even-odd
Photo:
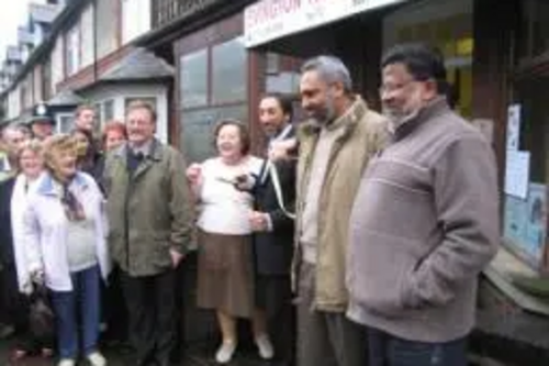
[{"label": "woman in open white jacket, patterned scarf and blue jeans", "polygon": [[45,142],[46,170],[24,218],[26,260],[31,276],[43,278],[52,292],[59,366],[76,365],[79,331],[81,354],[92,366],[103,366],[100,280],[110,271],[103,198],[94,179],[77,170],[76,147],[69,135]]}]

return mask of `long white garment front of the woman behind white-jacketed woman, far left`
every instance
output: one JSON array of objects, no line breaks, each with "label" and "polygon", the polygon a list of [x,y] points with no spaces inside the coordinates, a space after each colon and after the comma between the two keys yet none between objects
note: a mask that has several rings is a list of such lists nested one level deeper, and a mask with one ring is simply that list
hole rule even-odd
[{"label": "long white garment front of the woman behind white-jacketed woman, far left", "polygon": [[15,268],[18,271],[18,285],[21,292],[31,284],[31,274],[26,264],[26,252],[24,246],[24,215],[29,203],[29,197],[36,190],[36,179],[29,179],[20,174],[15,178],[13,192],[11,195],[11,230],[13,234],[13,252],[15,256]]}]

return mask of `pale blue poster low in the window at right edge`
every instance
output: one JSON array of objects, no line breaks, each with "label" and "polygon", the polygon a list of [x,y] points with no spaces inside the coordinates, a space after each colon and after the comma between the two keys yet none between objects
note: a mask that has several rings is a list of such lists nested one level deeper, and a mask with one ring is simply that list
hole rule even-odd
[{"label": "pale blue poster low in the window at right edge", "polygon": [[526,206],[525,244],[528,252],[539,258],[544,253],[547,235],[547,187],[530,184]]}]

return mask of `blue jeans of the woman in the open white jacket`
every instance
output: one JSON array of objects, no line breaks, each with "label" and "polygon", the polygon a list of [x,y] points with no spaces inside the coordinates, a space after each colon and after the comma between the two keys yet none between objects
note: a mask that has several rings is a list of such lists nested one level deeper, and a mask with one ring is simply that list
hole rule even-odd
[{"label": "blue jeans of the woman in the open white jacket", "polygon": [[101,308],[98,266],[72,273],[72,291],[52,291],[60,358],[78,357],[78,330],[83,355],[97,351]]}]

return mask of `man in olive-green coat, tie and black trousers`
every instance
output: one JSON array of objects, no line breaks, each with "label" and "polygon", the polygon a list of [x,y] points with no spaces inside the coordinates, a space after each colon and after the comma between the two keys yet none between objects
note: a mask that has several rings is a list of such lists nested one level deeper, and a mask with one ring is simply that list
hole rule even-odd
[{"label": "man in olive-green coat, tie and black trousers", "polygon": [[156,113],[126,111],[128,142],[107,158],[109,245],[122,271],[136,365],[170,365],[176,268],[191,241],[192,201],[182,155],[154,137]]}]

